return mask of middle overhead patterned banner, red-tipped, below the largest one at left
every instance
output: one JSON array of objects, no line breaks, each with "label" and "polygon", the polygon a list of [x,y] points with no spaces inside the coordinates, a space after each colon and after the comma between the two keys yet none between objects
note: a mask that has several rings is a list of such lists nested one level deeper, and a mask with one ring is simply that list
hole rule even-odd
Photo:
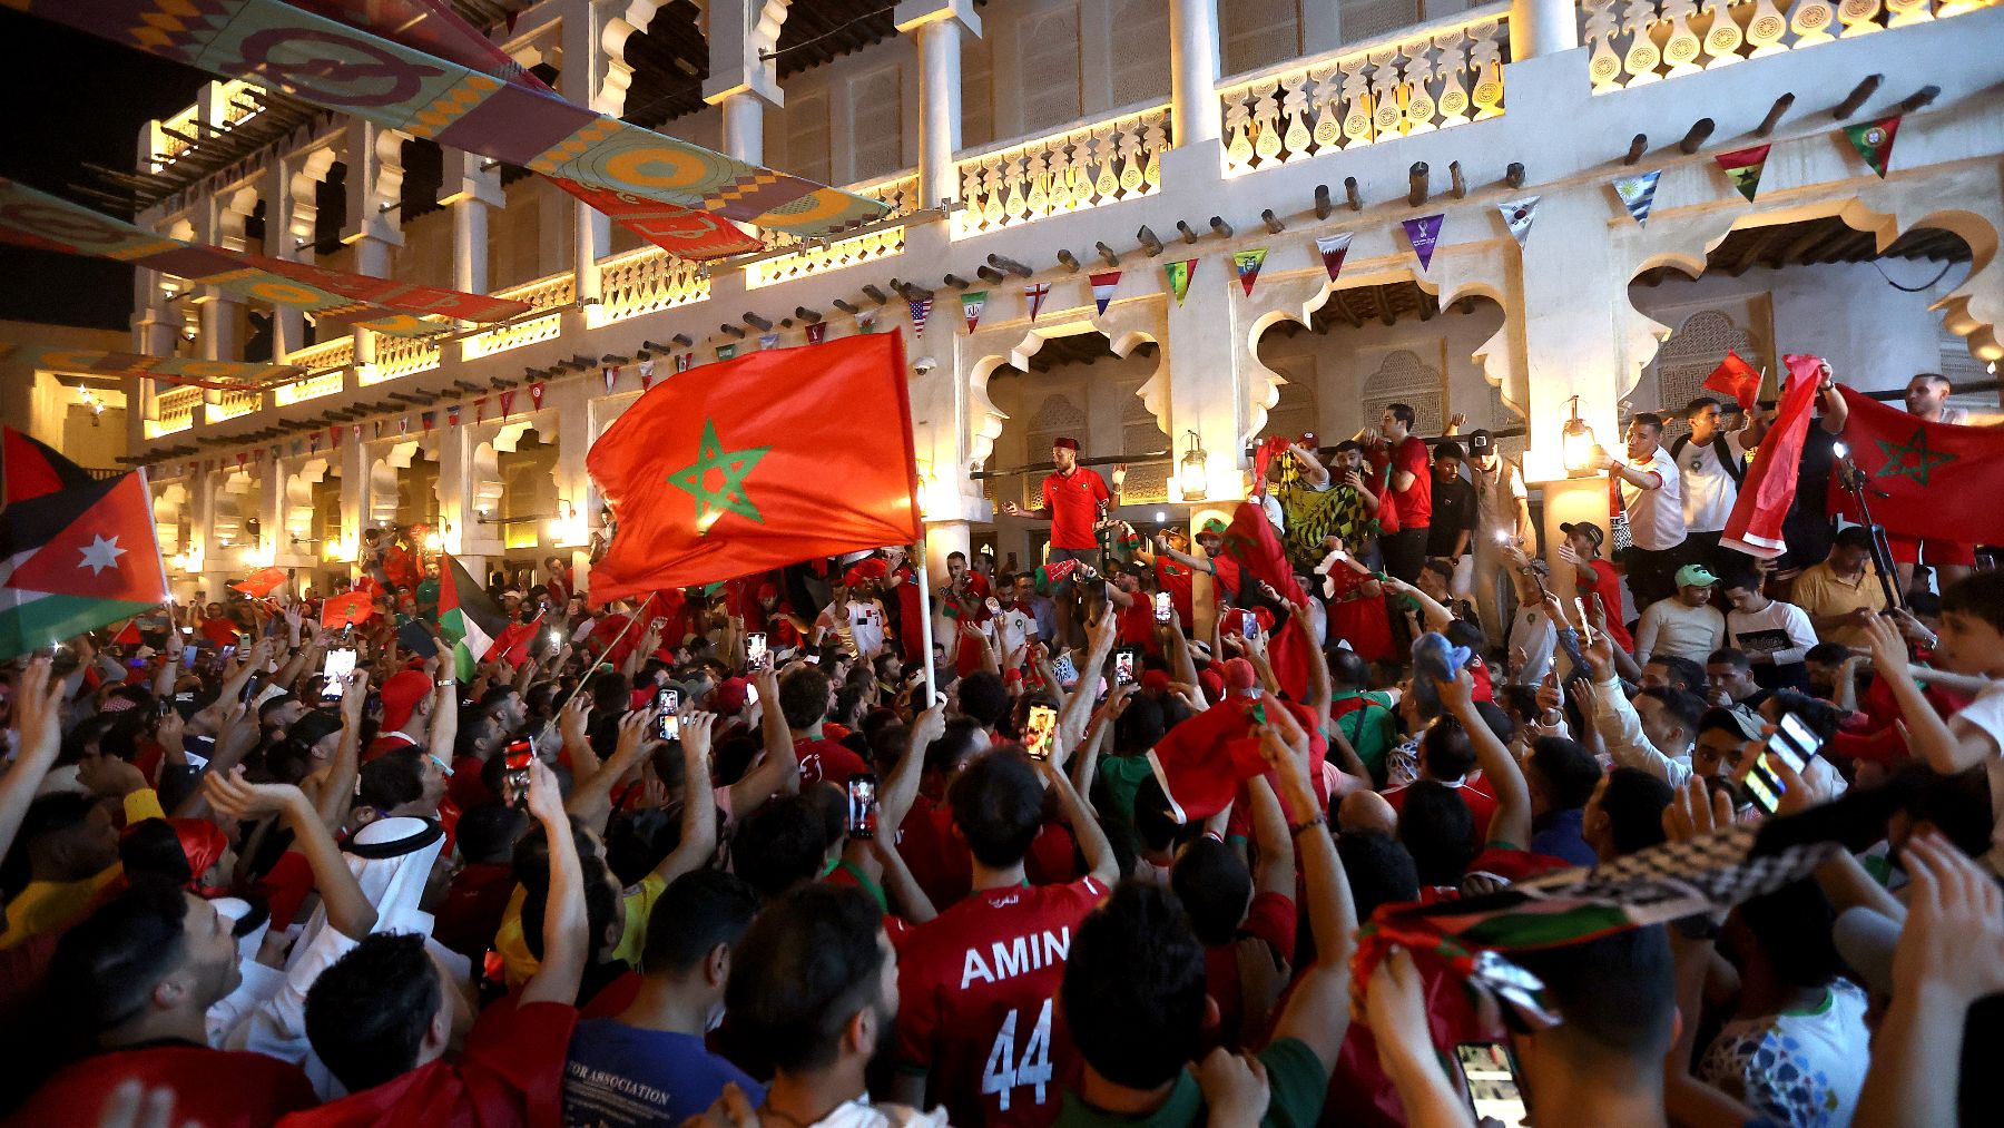
[{"label": "middle overhead patterned banner, red-tipped, below the largest one at left", "polygon": [[[391,278],[345,274],[309,262],[287,262],[222,246],[152,234],[26,184],[0,180],[0,242],[114,258],[216,287],[273,307],[311,313],[321,327],[359,327],[393,337],[423,337],[449,329],[425,317],[507,321],[529,303],[413,287]],[[385,311],[391,311],[385,315]]]}]

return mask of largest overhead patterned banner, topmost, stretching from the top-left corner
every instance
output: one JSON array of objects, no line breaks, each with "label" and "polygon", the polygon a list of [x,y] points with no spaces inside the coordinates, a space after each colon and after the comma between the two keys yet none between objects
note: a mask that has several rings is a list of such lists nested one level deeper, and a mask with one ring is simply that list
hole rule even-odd
[{"label": "largest overhead patterned banner, topmost, stretching from the top-left corner", "polygon": [[[12,0],[42,18],[325,110],[521,164],[621,208],[651,208],[687,256],[741,246],[727,220],[820,236],[882,216],[880,200],[733,160],[279,0]],[[341,10],[353,8],[339,4]],[[435,42],[435,38],[431,40]],[[575,188],[567,188],[575,190]],[[661,206],[681,208],[661,212]],[[705,244],[727,250],[701,252]],[[677,248],[677,252],[681,252]]]}]

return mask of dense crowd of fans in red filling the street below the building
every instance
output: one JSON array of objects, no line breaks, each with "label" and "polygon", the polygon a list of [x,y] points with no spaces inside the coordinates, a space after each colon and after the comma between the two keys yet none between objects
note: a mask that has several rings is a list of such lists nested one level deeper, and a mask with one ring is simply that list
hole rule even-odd
[{"label": "dense crowd of fans in red filling the street below the building", "polygon": [[[1267,451],[1299,599],[1218,523],[1136,537],[1060,441],[1014,511],[1050,557],[954,553],[930,653],[890,547],[609,607],[553,557],[491,577],[509,629],[459,661],[407,529],[365,541],[361,625],[204,595],[18,661],[0,1110],[1990,1122],[2004,573],[1820,511],[1780,561],[1723,549],[1762,425],[1709,399],[1667,445],[1635,417],[1599,459],[1621,517],[1547,545],[1491,435],[1413,423]],[[1800,771],[1766,755],[1790,725]],[[1212,749],[1204,801],[1174,765]],[[1387,906],[1860,795],[1810,878],[1509,952],[1555,1024],[1439,952],[1353,962]]]}]

